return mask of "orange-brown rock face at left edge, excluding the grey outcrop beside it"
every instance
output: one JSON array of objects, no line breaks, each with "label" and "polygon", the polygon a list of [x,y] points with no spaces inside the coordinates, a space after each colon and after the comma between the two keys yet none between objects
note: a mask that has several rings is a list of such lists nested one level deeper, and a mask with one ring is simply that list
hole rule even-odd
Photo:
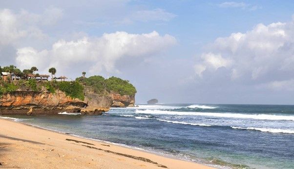
[{"label": "orange-brown rock face at left edge, excluding the grey outcrop beside it", "polygon": [[87,106],[79,99],[72,99],[61,91],[56,93],[15,91],[0,97],[0,114],[57,114],[79,112]]}]

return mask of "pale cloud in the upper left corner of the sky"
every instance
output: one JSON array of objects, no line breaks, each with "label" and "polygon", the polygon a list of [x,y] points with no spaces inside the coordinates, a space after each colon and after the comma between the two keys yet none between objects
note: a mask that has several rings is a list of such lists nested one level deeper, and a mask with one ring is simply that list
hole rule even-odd
[{"label": "pale cloud in the upper left corner of the sky", "polygon": [[[59,8],[50,7],[43,14],[0,9],[0,45],[20,44],[21,39],[44,39],[40,25],[55,24],[62,17]],[[1,46],[0,46],[1,47]]]}]

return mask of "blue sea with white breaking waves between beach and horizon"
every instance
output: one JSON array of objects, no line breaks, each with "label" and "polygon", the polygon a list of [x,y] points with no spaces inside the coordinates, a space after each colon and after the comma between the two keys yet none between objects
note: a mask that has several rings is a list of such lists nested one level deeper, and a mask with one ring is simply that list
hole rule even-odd
[{"label": "blue sea with white breaking waves between beach and horizon", "polygon": [[220,169],[294,169],[294,106],[157,104],[1,116]]}]

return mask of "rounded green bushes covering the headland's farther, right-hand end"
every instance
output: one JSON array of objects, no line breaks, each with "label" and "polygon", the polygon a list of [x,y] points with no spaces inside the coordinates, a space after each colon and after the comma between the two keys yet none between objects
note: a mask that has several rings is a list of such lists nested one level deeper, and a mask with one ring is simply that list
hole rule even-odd
[{"label": "rounded green bushes covering the headland's farther, right-hand end", "polygon": [[113,91],[120,95],[134,96],[137,92],[136,88],[126,80],[117,77],[104,79],[102,76],[91,76],[89,78],[79,77],[76,81],[86,86],[91,86],[96,93],[108,94]]}]

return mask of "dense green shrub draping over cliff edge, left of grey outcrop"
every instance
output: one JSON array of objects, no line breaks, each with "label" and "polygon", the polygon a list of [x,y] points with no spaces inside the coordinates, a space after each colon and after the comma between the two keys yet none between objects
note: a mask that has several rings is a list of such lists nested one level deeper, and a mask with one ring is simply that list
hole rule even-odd
[{"label": "dense green shrub draping over cliff edge, left of grey outcrop", "polygon": [[84,100],[84,86],[79,82],[58,82],[57,85],[67,96]]}]

